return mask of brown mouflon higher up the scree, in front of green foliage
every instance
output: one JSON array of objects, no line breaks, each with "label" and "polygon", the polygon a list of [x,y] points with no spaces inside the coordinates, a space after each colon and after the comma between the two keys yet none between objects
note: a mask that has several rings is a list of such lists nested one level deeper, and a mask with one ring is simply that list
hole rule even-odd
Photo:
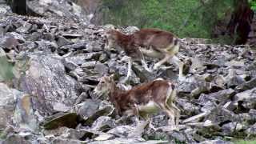
[{"label": "brown mouflon higher up the scree, in front of green foliage", "polygon": [[171,62],[178,65],[179,80],[184,80],[185,77],[182,74],[184,64],[175,56],[179,47],[179,39],[174,34],[164,30],[141,29],[134,32],[134,34],[123,34],[118,30],[106,31],[106,50],[121,48],[129,56],[126,79],[130,77],[133,61],[140,60],[146,70],[152,71],[146,65],[143,57],[145,55],[150,58],[161,59],[154,64],[154,70],[157,70],[159,66],[171,59]]}]

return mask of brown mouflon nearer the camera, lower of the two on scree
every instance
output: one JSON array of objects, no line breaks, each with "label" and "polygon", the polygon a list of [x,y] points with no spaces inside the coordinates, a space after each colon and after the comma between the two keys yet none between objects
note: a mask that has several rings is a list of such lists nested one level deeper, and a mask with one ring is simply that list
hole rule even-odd
[{"label": "brown mouflon nearer the camera, lower of the two on scree", "polygon": [[113,76],[104,76],[94,88],[94,94],[108,95],[118,114],[148,118],[148,114],[163,110],[170,118],[170,126],[178,126],[180,110],[174,105],[176,88],[173,82],[158,78],[130,90],[121,90]]}]

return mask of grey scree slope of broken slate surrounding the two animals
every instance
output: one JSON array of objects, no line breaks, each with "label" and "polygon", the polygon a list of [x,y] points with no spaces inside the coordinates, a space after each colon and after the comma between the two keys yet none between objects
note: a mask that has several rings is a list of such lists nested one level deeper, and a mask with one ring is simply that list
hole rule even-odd
[{"label": "grey scree slope of broken slate surrounding the two animals", "polygon": [[[187,61],[182,82],[172,64],[148,73],[135,63],[127,89],[155,78],[177,84],[180,129],[168,131],[164,113],[150,116],[153,129],[145,121],[136,125],[134,117],[120,118],[108,98],[93,93],[105,74],[115,74],[124,89],[126,54],[104,50],[104,31],[111,26],[50,16],[0,13],[0,57],[10,66],[4,74],[14,77],[10,81],[0,73],[2,143],[230,143],[256,135],[256,53],[250,47],[182,39],[178,57]],[[146,60],[150,66],[157,62]]]}]

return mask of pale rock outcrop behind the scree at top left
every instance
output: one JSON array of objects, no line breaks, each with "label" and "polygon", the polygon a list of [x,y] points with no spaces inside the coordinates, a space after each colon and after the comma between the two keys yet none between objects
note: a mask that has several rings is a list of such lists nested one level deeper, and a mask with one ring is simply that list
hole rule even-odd
[{"label": "pale rock outcrop behind the scree at top left", "polygon": [[[9,0],[7,1],[11,7],[12,12],[22,15],[33,16],[46,16],[46,17],[65,17],[68,19],[77,20],[86,24],[90,23],[92,15],[86,13],[81,6],[78,6],[75,2],[62,0]],[[4,5],[4,2],[0,2],[0,5]],[[78,2],[81,4],[81,2]],[[3,8],[1,12],[7,12],[8,8]],[[10,9],[10,8],[9,8]]]}]

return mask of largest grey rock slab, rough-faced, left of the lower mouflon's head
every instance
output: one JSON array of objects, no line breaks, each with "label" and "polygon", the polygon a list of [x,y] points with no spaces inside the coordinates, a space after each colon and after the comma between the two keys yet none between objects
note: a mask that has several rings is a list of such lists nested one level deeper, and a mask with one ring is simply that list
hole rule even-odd
[{"label": "largest grey rock slab, rough-faced, left of the lower mouflon's head", "polygon": [[66,75],[62,58],[50,54],[34,54],[26,58],[25,74],[19,78],[19,88],[32,95],[33,107],[39,114],[58,112],[55,104],[73,106],[80,85]]}]

